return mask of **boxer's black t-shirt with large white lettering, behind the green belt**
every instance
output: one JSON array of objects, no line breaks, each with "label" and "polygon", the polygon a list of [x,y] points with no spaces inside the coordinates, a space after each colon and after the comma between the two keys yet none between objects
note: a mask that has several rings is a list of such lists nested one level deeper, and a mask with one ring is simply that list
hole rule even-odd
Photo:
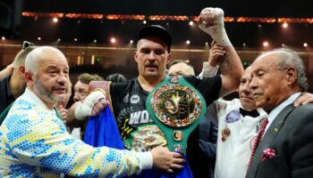
[{"label": "boxer's black t-shirt with large white lettering, behind the green belt", "polygon": [[[217,100],[221,90],[222,78],[194,76],[184,77],[202,94],[207,105]],[[110,86],[110,94],[114,109],[114,117],[122,135],[124,146],[129,150],[147,151],[158,145],[165,145],[165,134],[157,127],[146,109],[148,92],[140,86],[138,78],[127,83],[114,83]],[[209,128],[208,128],[209,129]],[[195,171],[199,156],[199,128],[190,134],[187,147],[187,158],[195,177],[200,175]],[[197,155],[197,156],[195,156]]]}]

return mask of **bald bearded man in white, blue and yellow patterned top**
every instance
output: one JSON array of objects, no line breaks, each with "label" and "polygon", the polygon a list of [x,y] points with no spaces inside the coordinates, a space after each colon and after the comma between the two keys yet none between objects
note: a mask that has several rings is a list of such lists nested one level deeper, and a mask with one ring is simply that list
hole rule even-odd
[{"label": "bald bearded man in white, blue and yellow patterned top", "polygon": [[25,69],[27,88],[0,127],[0,177],[125,176],[152,166],[168,172],[182,167],[180,155],[162,147],[143,153],[92,148],[68,134],[55,112],[70,83],[59,50],[36,48]]}]

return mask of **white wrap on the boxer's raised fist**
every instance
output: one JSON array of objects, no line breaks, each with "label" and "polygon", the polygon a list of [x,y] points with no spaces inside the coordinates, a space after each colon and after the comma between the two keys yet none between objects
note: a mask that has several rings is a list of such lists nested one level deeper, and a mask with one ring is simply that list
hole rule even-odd
[{"label": "white wrap on the boxer's raised fist", "polygon": [[199,21],[199,28],[210,35],[216,41],[216,44],[224,47],[232,45],[224,28],[224,12],[222,9],[207,7],[202,10],[199,17],[202,18],[202,21]]}]

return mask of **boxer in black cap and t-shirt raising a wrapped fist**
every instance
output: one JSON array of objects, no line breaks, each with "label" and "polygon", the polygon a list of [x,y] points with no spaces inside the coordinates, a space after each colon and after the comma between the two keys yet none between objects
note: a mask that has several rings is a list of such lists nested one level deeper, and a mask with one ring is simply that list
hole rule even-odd
[{"label": "boxer in black cap and t-shirt raising a wrapped fist", "polygon": [[[224,12],[219,8],[206,8],[199,15],[199,26],[227,51],[226,60],[221,65],[222,74],[216,77],[194,76],[184,77],[190,85],[199,90],[207,105],[226,93],[233,92],[239,85],[243,68],[239,56],[228,39],[224,29]],[[148,94],[165,79],[166,64],[171,61],[172,37],[161,26],[140,28],[137,50],[134,59],[138,63],[139,77],[124,84],[109,86],[108,101],[112,101],[114,117],[117,120],[125,148],[129,150],[147,151],[157,145],[165,146],[165,134],[153,122],[146,109]],[[90,93],[85,101],[78,103],[69,111],[67,123],[73,117],[79,120],[91,115],[98,96],[106,98],[106,94],[97,90]],[[76,108],[75,108],[76,107]],[[201,177],[199,167],[199,133],[198,129],[190,134],[187,148],[187,159],[192,174]],[[151,142],[145,142],[145,141]]]}]

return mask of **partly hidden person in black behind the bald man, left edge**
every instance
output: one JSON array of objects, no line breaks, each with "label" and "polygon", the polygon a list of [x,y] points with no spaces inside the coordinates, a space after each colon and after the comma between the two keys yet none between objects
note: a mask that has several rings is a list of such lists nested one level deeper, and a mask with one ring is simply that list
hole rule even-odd
[{"label": "partly hidden person in black behind the bald man, left edge", "polygon": [[[12,75],[0,80],[0,114],[24,92],[26,87],[24,80],[25,59],[33,49],[35,49],[34,44],[24,42],[21,51],[14,58]],[[0,119],[0,125],[1,123],[2,120]]]}]

